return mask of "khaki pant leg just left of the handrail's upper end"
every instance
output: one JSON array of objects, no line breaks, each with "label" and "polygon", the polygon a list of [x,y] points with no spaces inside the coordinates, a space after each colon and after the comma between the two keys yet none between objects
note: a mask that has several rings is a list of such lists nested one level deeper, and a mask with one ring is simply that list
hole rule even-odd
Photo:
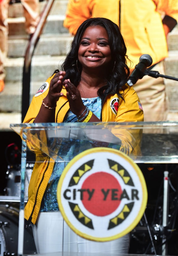
[{"label": "khaki pant leg just left of the handrail's upper end", "polygon": [[24,8],[25,29],[28,34],[33,34],[39,22],[39,1],[21,0]]}]

